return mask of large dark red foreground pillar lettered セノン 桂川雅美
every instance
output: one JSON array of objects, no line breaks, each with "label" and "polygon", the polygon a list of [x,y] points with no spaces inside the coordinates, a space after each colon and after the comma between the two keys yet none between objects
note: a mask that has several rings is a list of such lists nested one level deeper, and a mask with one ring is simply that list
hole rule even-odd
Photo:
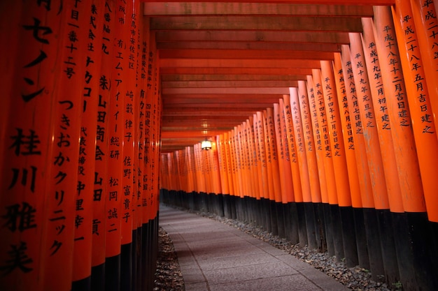
[{"label": "large dark red foreground pillar lettered \u30bb\u30ce\u30f3 \u6842\u5ddd\u96c5\u7f8e", "polygon": [[[2,122],[0,126],[2,173],[0,213],[3,217],[0,226],[3,234],[0,239],[0,265],[2,266],[0,285],[4,290],[55,290],[57,288],[48,288],[44,284],[41,276],[45,273],[45,267],[41,264],[46,257],[50,256],[48,251],[54,243],[54,241],[45,242],[48,239],[43,239],[45,237],[43,230],[48,227],[55,230],[58,224],[60,230],[64,223],[61,219],[55,221],[57,225],[48,223],[48,218],[45,217],[45,213],[48,214],[45,200],[55,200],[56,202],[59,199],[61,201],[60,192],[58,192],[59,195],[55,195],[55,192],[48,194],[49,185],[45,182],[50,179],[50,184],[52,184],[52,179],[55,176],[46,177],[45,173],[52,172],[52,168],[54,168],[53,170],[57,168],[56,165],[46,161],[48,156],[51,159],[54,154],[50,149],[56,149],[57,142],[59,142],[59,140],[52,140],[52,136],[54,136],[52,131],[55,126],[54,117],[56,110],[62,109],[59,106],[70,107],[70,103],[59,104],[59,102],[72,101],[64,98],[62,98],[64,100],[57,100],[59,90],[55,88],[55,80],[56,77],[59,77],[64,82],[66,73],[63,70],[66,68],[59,68],[59,71],[56,72],[57,76],[50,73],[52,68],[55,68],[55,64],[61,61],[59,52],[62,54],[68,52],[65,47],[62,47],[65,38],[59,40],[56,38],[56,36],[66,36],[64,24],[59,26],[59,23],[64,23],[64,13],[57,13],[59,7],[50,9],[47,6],[38,5],[36,2],[27,3],[26,6],[24,3],[21,5],[13,3],[12,6],[10,13],[3,13],[10,29],[4,29],[6,27],[4,26],[1,30],[14,33],[10,39],[13,44],[14,40],[17,39],[16,43],[21,43],[21,45],[8,47],[8,54],[5,53],[1,57],[1,64],[8,63],[6,58],[10,58],[10,61],[13,62],[2,67],[2,75],[8,76],[6,80],[10,81],[6,87],[2,87],[2,93],[3,96],[6,96],[4,106],[7,108],[4,110],[15,114],[5,114],[4,117],[1,117],[2,121],[6,122]],[[6,7],[2,4],[2,9]],[[44,22],[41,23],[43,20]],[[1,23],[5,22],[2,20]],[[36,33],[41,29],[46,33],[43,35]],[[33,31],[34,33],[32,33]],[[15,54],[22,57],[15,59],[13,58]],[[82,60],[80,56],[78,59]],[[15,70],[8,70],[12,66],[15,67]],[[10,73],[11,71],[13,73]],[[75,79],[82,80],[82,74],[83,70],[80,70]],[[80,88],[81,84],[77,85]],[[3,88],[6,88],[6,91],[3,91]],[[81,91],[76,93],[77,96],[80,96]],[[75,100],[73,105],[76,105],[74,111],[78,112],[80,100]],[[78,116],[71,115],[70,112],[67,115],[70,115],[69,118],[76,118],[76,120],[78,118]],[[56,120],[57,128],[59,128],[60,121],[61,119]],[[79,137],[79,133],[76,137]],[[78,142],[73,147],[78,150]],[[74,152],[75,156],[77,153],[77,151]],[[75,163],[73,160],[71,162]],[[74,165],[71,167],[73,168]],[[65,204],[63,204],[64,200],[61,204],[58,201],[58,206],[62,207],[59,210],[64,211],[64,208],[67,208],[74,211],[75,189],[76,185],[69,191],[71,197],[66,200]],[[20,218],[19,214],[29,219],[24,220]],[[53,215],[53,212],[50,215]],[[71,226],[68,228],[68,233],[70,241],[66,241],[66,244],[71,247],[73,246],[73,215],[74,212],[69,211],[69,225]],[[62,239],[64,239],[64,234]],[[61,241],[61,237],[59,241]],[[56,250],[59,241],[52,251]],[[59,256],[62,253],[65,252],[61,251],[58,254],[55,252],[53,255]],[[20,254],[20,264],[17,264],[15,260],[17,254]],[[71,262],[71,260],[66,261]],[[66,269],[71,274],[71,266],[67,265]],[[57,284],[56,287],[59,287],[57,290],[69,290],[71,287],[70,274],[66,275],[66,278],[55,278],[54,282],[62,283],[62,287]]]}]

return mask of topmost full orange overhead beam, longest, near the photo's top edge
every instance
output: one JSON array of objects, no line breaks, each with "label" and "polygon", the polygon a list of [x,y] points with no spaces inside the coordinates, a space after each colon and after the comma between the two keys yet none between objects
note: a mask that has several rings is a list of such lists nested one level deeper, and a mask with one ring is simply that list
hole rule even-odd
[{"label": "topmost full orange overhead beam, longest, near the photo's top edge", "polygon": [[143,15],[290,15],[372,17],[372,6],[339,6],[293,3],[149,2]]}]

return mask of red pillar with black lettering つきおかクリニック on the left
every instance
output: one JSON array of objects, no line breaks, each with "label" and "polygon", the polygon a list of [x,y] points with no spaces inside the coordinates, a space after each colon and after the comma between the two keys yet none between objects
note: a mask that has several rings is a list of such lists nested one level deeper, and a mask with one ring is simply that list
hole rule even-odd
[{"label": "red pillar with black lettering \u3064\u304d\u304a\u304b\u30af\u30ea\u30cb\u30c3\u30af on the left", "polygon": [[[72,250],[75,240],[82,239],[82,237],[75,236],[75,231],[87,218],[82,216],[80,211],[91,210],[85,208],[87,202],[82,205],[86,198],[78,197],[76,190],[78,175],[92,174],[85,172],[85,168],[78,168],[79,158],[77,158],[80,147],[82,147],[81,150],[85,150],[84,146],[87,142],[80,140],[81,128],[78,121],[83,112],[82,97],[86,84],[85,60],[87,59],[88,31],[80,28],[89,27],[91,5],[92,1],[83,1],[76,6],[71,2],[65,3],[61,13],[60,26],[64,27],[64,31],[59,34],[56,54],[59,57],[58,64],[62,65],[55,67],[57,82],[51,94],[57,103],[53,107],[55,111],[52,114],[50,126],[54,144],[52,152],[46,156],[51,161],[55,161],[55,166],[45,173],[45,181],[48,183],[47,193],[52,194],[45,200],[45,221],[50,221],[50,223],[45,228],[45,246],[41,250],[45,256],[41,265],[41,270],[44,270],[41,274],[43,290],[69,290],[71,288]],[[72,11],[77,11],[82,16],[75,17]],[[83,237],[83,239],[86,238]],[[89,255],[85,260],[90,259]],[[88,272],[85,271],[85,273]],[[76,275],[85,276],[82,272]]]}]

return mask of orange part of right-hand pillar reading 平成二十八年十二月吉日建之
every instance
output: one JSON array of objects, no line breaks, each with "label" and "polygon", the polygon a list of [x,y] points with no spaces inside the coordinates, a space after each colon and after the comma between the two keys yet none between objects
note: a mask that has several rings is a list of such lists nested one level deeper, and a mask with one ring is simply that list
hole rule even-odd
[{"label": "orange part of right-hand pillar reading \u5e73\u6210\u4e8c\u5341\u516b\u5e74\u5341\u4e8c\u6708\u5409\u65e5\u5efa\u4e4b", "polygon": [[381,56],[380,68],[391,133],[395,140],[397,174],[400,179],[400,188],[405,191],[402,194],[404,211],[423,212],[425,211],[423,186],[390,8],[374,7],[374,15],[374,36],[377,54]]}]

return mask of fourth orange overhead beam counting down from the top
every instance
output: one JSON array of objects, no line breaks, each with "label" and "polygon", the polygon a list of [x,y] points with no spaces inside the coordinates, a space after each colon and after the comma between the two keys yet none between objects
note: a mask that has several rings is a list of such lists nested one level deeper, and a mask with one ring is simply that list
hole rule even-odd
[{"label": "fourth orange overhead beam counting down from the top", "polygon": [[268,43],[256,41],[163,41],[157,49],[220,49],[220,50],[298,50],[311,52],[341,52],[337,43]]}]

